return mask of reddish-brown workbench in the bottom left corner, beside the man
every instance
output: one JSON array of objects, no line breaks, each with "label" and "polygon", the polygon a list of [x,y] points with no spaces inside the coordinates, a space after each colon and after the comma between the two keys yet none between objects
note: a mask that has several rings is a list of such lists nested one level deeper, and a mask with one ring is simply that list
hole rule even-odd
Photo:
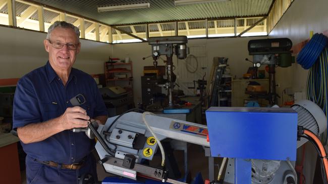
[{"label": "reddish-brown workbench in the bottom left corner, beside the man", "polygon": [[11,133],[0,133],[0,183],[21,183],[17,142]]}]

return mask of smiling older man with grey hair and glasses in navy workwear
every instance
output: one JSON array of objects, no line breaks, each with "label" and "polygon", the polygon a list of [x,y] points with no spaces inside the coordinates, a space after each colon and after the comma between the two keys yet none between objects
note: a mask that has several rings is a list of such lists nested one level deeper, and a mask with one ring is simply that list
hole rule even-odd
[{"label": "smiling older man with grey hair and glasses in navy workwear", "polygon": [[[71,131],[87,127],[90,118],[101,124],[107,119],[94,79],[72,67],[81,48],[79,36],[72,24],[51,25],[43,42],[48,62],[17,84],[13,128],[27,153],[27,183],[77,183],[87,173],[96,177],[90,154],[94,140]],[[73,107],[70,99],[79,94],[86,102]]]}]

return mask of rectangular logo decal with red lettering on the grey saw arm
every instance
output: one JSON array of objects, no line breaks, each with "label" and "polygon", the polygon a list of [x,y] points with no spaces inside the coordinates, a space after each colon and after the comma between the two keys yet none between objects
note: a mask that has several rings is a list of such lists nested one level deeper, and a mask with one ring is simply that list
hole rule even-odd
[{"label": "rectangular logo decal with red lettering on the grey saw arm", "polygon": [[208,134],[206,128],[202,128],[195,125],[189,125],[182,122],[176,122],[176,121],[172,121],[170,125],[170,129],[181,131],[181,132],[187,132],[191,134],[198,134],[202,136],[206,136]]}]

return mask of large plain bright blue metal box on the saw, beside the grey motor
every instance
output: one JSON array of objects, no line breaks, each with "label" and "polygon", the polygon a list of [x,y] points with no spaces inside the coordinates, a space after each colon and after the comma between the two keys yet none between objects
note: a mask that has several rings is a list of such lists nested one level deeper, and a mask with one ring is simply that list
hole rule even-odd
[{"label": "large plain bright blue metal box on the saw, beside the grey motor", "polygon": [[297,113],[291,108],[211,107],[206,120],[213,157],[296,160]]}]

